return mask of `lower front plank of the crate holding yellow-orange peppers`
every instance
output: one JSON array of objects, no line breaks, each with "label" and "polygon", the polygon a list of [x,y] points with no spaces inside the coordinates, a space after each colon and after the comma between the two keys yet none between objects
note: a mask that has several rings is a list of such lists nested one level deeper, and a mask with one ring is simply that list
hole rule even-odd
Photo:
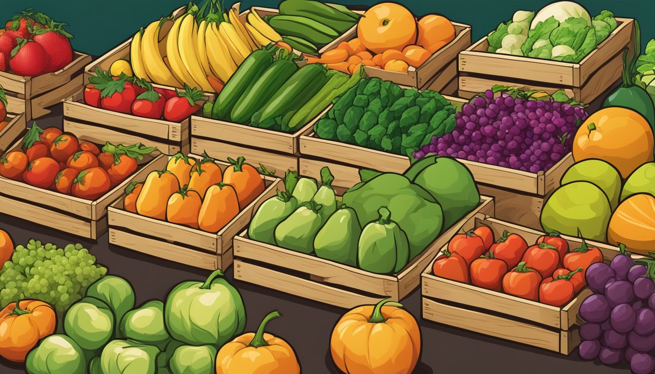
[{"label": "lower front plank of the crate holding yellow-orange peppers", "polygon": [[219,256],[215,253],[191,250],[161,240],[126,233],[113,227],[109,229],[109,243],[200,269],[215,270],[219,265]]}]

